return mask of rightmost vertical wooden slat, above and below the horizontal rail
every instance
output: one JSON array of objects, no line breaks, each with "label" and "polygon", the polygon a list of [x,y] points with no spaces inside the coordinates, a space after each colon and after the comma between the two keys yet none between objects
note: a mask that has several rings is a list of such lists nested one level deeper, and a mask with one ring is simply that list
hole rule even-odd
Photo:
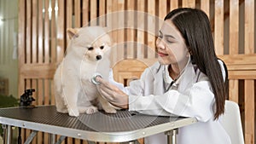
[{"label": "rightmost vertical wooden slat, above and below the horizontal rail", "polygon": [[[245,54],[255,54],[255,1],[245,1]],[[255,61],[255,60],[254,60]],[[254,69],[255,70],[255,69]],[[254,72],[255,74],[255,72]],[[255,143],[255,78],[245,80],[245,139],[246,143]]]}]

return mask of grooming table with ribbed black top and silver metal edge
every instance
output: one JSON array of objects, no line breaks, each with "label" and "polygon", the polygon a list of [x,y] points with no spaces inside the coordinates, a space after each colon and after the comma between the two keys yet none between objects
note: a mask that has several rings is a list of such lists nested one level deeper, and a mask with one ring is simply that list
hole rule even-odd
[{"label": "grooming table with ribbed black top and silver metal edge", "polygon": [[[51,143],[61,143],[68,136],[87,141],[131,144],[139,138],[166,132],[167,141],[172,144],[176,143],[177,129],[196,123],[196,119],[148,116],[122,110],[116,114],[96,112],[74,118],[56,112],[55,106],[39,106],[1,108],[0,123],[7,126],[7,143],[11,141],[11,126],[15,126],[32,130],[25,143],[30,143],[38,131],[42,131],[52,134]],[[55,141],[55,135],[61,135],[58,141]]]}]

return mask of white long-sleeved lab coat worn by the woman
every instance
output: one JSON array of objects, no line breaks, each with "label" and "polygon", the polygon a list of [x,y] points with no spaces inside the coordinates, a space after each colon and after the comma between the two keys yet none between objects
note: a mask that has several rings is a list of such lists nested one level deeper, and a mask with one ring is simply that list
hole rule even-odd
[{"label": "white long-sleeved lab coat worn by the woman", "polygon": [[[225,78],[223,63],[219,63]],[[159,62],[148,67],[139,80],[123,89],[129,95],[129,110],[196,118],[198,123],[178,129],[177,144],[230,144],[221,118],[213,120],[214,95],[207,76],[189,62],[177,82],[165,92],[171,82],[167,68]],[[145,143],[165,144],[167,138],[163,133],[152,135],[145,138]]]}]

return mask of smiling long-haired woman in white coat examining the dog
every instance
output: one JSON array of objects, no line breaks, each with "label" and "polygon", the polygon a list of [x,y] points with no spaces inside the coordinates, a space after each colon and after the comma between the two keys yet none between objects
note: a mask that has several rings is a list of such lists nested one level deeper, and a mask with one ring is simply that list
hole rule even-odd
[{"label": "smiling long-haired woman in white coat examining the dog", "polygon": [[[227,73],[215,54],[207,14],[200,9],[173,10],[160,28],[156,48],[158,62],[129,87],[97,78],[101,94],[130,111],[196,118],[198,123],[179,129],[178,144],[230,144],[220,124]],[[163,133],[145,138],[147,144],[166,142]]]}]

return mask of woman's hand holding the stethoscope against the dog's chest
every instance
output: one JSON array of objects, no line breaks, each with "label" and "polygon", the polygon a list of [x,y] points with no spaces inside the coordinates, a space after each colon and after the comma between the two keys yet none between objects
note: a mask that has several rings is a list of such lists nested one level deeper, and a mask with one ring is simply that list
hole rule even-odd
[{"label": "woman's hand holding the stethoscope against the dog's chest", "polygon": [[96,81],[100,84],[97,85],[101,95],[115,107],[128,108],[129,100],[122,90],[113,84],[109,84],[107,81],[100,77],[96,77]]}]

